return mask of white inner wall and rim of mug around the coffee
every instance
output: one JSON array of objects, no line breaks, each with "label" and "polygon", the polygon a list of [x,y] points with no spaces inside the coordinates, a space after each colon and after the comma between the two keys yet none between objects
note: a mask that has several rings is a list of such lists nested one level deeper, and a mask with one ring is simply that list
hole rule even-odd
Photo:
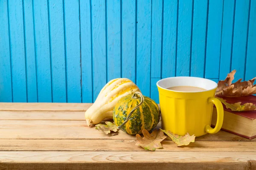
[{"label": "white inner wall and rim of mug around the coffee", "polygon": [[[165,79],[160,79],[157,82],[157,86],[159,88],[167,88],[176,87],[176,86],[193,86],[198,88],[203,88],[205,90],[202,91],[210,91],[217,88],[217,83],[210,80],[204,79],[200,77],[169,77]],[[174,90],[169,90],[174,91]],[[195,93],[198,91],[179,91],[179,92],[186,92],[186,93]]]}]

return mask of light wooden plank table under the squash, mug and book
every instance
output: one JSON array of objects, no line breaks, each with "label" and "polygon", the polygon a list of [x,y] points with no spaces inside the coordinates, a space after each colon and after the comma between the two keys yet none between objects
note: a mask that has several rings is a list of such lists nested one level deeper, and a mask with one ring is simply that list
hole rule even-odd
[{"label": "light wooden plank table under the squash, mug and book", "polygon": [[166,139],[150,152],[135,136],[87,127],[90,105],[0,103],[0,170],[256,169],[256,139],[220,131],[185,147]]}]

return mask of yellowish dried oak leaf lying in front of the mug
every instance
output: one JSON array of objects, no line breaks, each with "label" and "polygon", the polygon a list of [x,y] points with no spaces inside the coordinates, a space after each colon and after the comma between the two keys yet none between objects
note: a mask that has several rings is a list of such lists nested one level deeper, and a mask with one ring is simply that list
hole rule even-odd
[{"label": "yellowish dried oak leaf lying in front of the mug", "polygon": [[177,144],[177,146],[188,145],[190,142],[195,142],[195,135],[190,136],[189,133],[186,133],[185,136],[179,136],[177,134],[173,134],[169,130],[161,129],[166,135],[168,135],[173,142]]}]

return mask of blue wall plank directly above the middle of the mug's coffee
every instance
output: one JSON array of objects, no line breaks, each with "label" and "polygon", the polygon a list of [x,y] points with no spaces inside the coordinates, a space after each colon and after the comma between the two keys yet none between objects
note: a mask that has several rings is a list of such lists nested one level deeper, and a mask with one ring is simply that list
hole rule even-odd
[{"label": "blue wall plank directly above the middle of the mug's coffee", "polygon": [[179,0],[176,76],[190,74],[192,2],[192,0]]}]

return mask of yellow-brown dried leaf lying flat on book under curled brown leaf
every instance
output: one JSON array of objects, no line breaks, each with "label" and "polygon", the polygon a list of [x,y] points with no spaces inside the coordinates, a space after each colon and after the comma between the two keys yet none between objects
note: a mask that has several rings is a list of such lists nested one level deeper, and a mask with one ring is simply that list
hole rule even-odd
[{"label": "yellow-brown dried leaf lying flat on book under curled brown leaf", "polygon": [[255,111],[256,105],[253,105],[253,103],[245,103],[244,105],[241,105],[241,102],[237,103],[228,103],[225,99],[217,97],[225,106],[227,109],[231,109],[231,111]]}]

